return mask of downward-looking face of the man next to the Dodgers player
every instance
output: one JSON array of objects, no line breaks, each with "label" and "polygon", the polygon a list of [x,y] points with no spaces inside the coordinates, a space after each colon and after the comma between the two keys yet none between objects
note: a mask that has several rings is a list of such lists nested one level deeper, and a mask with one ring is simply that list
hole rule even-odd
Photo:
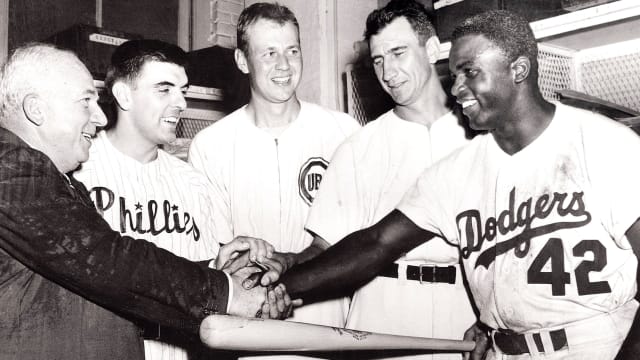
[{"label": "downward-looking face of the man next to the Dodgers player", "polygon": [[393,20],[369,40],[378,82],[402,106],[410,106],[421,96],[432,76],[425,44],[404,17]]}]

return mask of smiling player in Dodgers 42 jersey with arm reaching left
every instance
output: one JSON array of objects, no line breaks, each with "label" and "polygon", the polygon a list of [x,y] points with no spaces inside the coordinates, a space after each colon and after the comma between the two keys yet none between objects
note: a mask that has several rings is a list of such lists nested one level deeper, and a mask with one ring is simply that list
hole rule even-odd
[{"label": "smiling player in Dodgers 42 jersey with arm reaching left", "polygon": [[459,25],[452,93],[489,133],[427,169],[376,225],[285,274],[290,294],[353,286],[442,236],[460,247],[490,359],[616,357],[638,308],[640,165],[625,155],[640,138],[545,101],[537,66],[522,17],[490,11]]}]

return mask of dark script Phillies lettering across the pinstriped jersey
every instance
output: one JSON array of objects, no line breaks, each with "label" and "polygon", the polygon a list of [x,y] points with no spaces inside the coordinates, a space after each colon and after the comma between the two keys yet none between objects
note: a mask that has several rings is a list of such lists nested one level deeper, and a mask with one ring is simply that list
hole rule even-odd
[{"label": "dark script Phillies lettering across the pinstriped jersey", "polygon": [[[97,186],[91,189],[90,194],[100,212],[109,210],[115,203],[115,195],[108,188]],[[158,235],[166,233],[186,233],[193,234],[193,239],[200,239],[200,230],[195,219],[188,212],[180,212],[177,205],[172,205],[168,200],[162,201],[161,205],[155,200],[149,200],[145,206],[140,203],[134,204],[134,210],[127,208],[126,199],[118,198],[118,211],[120,214],[120,232],[125,233],[131,230],[138,234],[151,233]],[[145,227],[145,216],[148,225]]]}]

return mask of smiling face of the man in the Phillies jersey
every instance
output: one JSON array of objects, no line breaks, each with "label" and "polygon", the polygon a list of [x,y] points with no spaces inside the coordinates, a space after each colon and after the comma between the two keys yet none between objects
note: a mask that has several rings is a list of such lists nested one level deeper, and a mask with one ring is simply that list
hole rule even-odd
[{"label": "smiling face of the man in the Phillies jersey", "polygon": [[168,144],[176,140],[180,113],[187,107],[187,74],[180,65],[148,61],[129,85],[131,127],[140,142]]}]

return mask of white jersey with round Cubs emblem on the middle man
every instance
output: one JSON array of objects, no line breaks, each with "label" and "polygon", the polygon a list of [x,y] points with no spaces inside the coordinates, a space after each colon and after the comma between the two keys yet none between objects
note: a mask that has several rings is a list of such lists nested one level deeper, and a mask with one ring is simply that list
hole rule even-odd
[{"label": "white jersey with round Cubs emblem on the middle man", "polygon": [[[200,131],[189,161],[223,195],[212,199],[231,219],[216,228],[221,242],[252,236],[279,252],[298,253],[313,238],[304,229],[309,206],[338,145],[359,128],[347,114],[300,102],[296,120],[274,138],[249,118],[246,106]],[[293,321],[344,326],[346,299],[297,308]]]}]

